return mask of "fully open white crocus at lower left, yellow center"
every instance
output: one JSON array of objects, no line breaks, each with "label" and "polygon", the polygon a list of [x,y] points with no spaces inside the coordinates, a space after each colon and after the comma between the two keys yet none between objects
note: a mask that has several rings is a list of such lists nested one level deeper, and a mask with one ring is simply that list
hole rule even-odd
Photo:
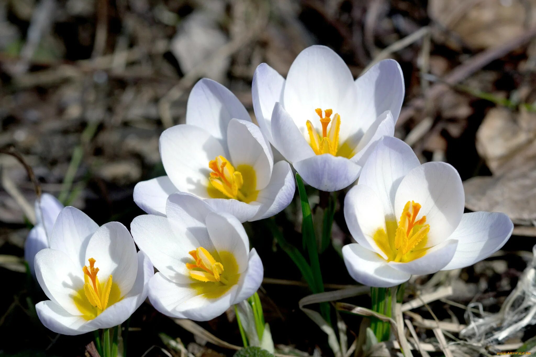
[{"label": "fully open white crocus at lower left, yellow center", "polygon": [[35,255],[35,273],[50,300],[35,305],[48,329],[80,335],[124,322],[147,297],[154,270],[136,253],[119,222],[99,227],[84,212],[65,207],[58,215],[50,248]]}]

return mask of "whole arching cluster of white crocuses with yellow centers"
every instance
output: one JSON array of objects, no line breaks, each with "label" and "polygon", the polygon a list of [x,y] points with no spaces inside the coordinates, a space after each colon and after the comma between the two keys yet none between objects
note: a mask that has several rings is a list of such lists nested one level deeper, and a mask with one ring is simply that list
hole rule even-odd
[{"label": "whole arching cluster of white crocuses with yellow centers", "polygon": [[[76,335],[121,324],[147,296],[159,312],[196,321],[248,299],[264,271],[241,223],[291,203],[291,164],[322,191],[359,177],[344,205],[357,243],[343,256],[362,284],[394,286],[485,259],[510,237],[510,219],[464,214],[457,171],[446,163],[421,165],[392,137],[403,97],[394,60],[354,81],[323,46],[303,50],[286,79],[266,64],[257,67],[258,126],[227,88],[200,80],[186,124],[160,136],[167,176],[135,187],[133,199],[147,214],[132,221],[131,233],[118,222],[99,227],[50,195],[36,203],[26,259],[50,299],[36,306],[41,321]],[[286,161],[274,162],[276,150]]]}]

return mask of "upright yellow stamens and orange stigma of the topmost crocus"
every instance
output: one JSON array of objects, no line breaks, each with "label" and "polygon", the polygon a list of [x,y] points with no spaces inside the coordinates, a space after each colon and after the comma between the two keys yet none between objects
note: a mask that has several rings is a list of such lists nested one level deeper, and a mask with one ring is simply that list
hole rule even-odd
[{"label": "upright yellow stamens and orange stigma of the topmost crocus", "polygon": [[[309,145],[316,155],[331,154],[337,156],[339,149],[339,131],[340,131],[340,115],[337,113],[331,120],[333,110],[324,110],[324,116],[322,116],[322,109],[317,108],[315,112],[320,117],[320,123],[322,124],[322,136],[318,134],[315,127],[310,120],[307,120],[307,132],[309,133]],[[331,125],[330,125],[331,123]],[[329,130],[328,127],[329,126]]]}]

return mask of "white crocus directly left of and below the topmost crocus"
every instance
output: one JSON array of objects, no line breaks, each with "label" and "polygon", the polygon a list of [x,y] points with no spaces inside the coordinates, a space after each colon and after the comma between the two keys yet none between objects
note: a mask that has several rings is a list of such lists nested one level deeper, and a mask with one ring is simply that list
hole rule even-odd
[{"label": "white crocus directly left of and below the topmost crocus", "polygon": [[168,176],[138,183],[134,201],[165,214],[168,195],[187,192],[240,222],[273,216],[291,203],[294,178],[285,161],[273,162],[270,144],[227,88],[202,79],[188,98],[186,124],[160,136]]}]

